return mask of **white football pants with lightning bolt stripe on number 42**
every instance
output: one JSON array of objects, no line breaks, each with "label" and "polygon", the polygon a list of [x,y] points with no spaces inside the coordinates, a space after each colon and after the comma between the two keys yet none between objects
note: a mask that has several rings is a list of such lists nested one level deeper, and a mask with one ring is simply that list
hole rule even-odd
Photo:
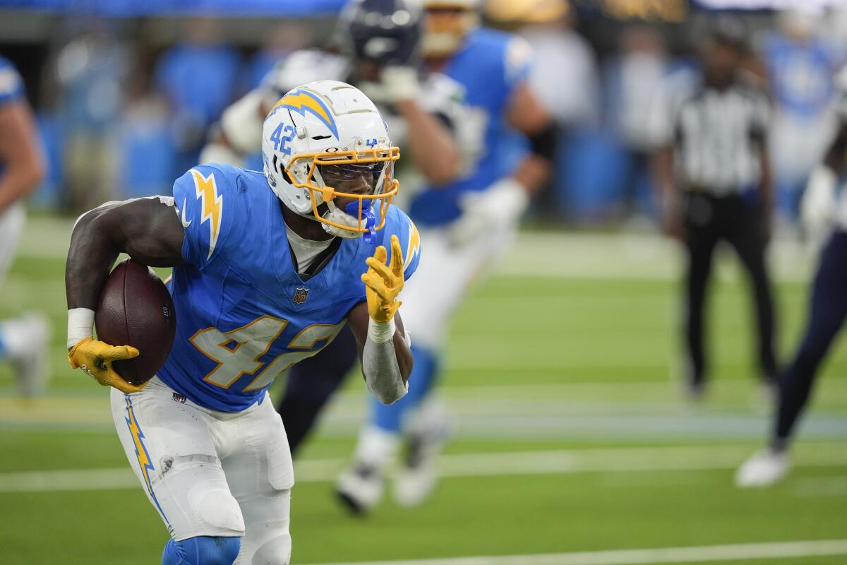
[{"label": "white football pants with lightning bolt stripe on number 42", "polygon": [[174,540],[238,536],[236,565],[287,565],[294,467],[267,394],[242,412],[216,412],[153,377],[131,395],[112,389],[112,416],[130,466]]}]

